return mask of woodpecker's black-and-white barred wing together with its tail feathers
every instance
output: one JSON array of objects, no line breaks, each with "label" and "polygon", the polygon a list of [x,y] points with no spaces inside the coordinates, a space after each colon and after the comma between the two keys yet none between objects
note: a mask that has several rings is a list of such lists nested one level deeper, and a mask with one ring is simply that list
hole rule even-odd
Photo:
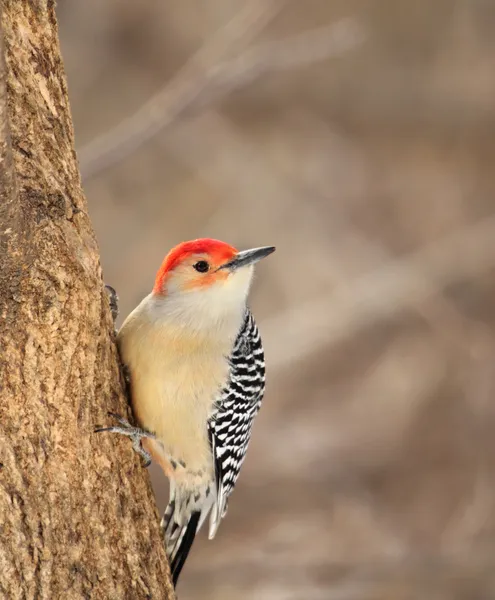
[{"label": "woodpecker's black-and-white barred wing together with its tail feathers", "polygon": [[208,513],[208,537],[213,539],[227,512],[228,498],[239,477],[264,391],[263,346],[254,318],[246,310],[230,357],[228,383],[208,421],[215,481],[193,491],[171,482],[170,501],[163,515],[162,531],[174,585]]}]

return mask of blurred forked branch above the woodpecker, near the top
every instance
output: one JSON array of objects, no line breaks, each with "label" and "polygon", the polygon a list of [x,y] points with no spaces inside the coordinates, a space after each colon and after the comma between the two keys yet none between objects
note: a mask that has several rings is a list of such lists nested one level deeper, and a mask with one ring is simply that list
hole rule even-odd
[{"label": "blurred forked branch above the woodpecker, near the top", "polygon": [[[261,43],[230,59],[280,10],[280,2],[253,2],[203,47],[136,113],[79,152],[85,181],[119,163],[187,111],[204,108],[271,71],[293,69],[351,50],[364,41],[358,23],[344,19],[282,40]],[[255,18],[256,17],[256,18]],[[236,32],[234,39],[232,32]],[[198,73],[198,66],[203,67]]]}]

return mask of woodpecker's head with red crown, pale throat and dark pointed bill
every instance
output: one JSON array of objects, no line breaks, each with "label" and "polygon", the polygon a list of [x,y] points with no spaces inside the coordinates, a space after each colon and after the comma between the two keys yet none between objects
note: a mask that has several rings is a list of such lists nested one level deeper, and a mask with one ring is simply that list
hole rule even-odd
[{"label": "woodpecker's head with red crown, pale throat and dark pointed bill", "polygon": [[266,246],[239,252],[210,238],[182,242],[163,260],[153,295],[170,305],[189,307],[196,314],[218,319],[244,308],[254,264],[274,250]]}]

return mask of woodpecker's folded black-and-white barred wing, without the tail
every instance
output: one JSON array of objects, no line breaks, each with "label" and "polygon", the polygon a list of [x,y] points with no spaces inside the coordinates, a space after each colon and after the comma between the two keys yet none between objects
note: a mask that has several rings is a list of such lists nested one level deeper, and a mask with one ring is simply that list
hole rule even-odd
[{"label": "woodpecker's folded black-and-white barred wing, without the tail", "polygon": [[230,378],[208,423],[215,461],[217,498],[210,517],[212,539],[246,456],[253,421],[265,391],[265,358],[258,328],[247,311],[230,359]]}]

